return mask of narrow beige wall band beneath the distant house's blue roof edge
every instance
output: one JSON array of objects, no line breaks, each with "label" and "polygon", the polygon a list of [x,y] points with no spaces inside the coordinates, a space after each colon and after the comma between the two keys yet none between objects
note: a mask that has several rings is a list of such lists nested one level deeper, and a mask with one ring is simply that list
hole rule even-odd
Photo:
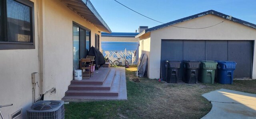
[{"label": "narrow beige wall band beneath the distant house's blue roof edge", "polygon": [[117,42],[138,42],[135,37],[101,37],[102,41],[117,41]]}]

